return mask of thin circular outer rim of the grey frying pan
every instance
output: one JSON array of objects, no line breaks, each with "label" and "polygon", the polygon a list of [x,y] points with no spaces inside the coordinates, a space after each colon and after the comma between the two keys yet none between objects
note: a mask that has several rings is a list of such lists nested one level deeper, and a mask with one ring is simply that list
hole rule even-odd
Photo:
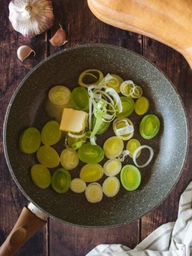
[{"label": "thin circular outer rim of the grey frying pan", "polygon": [[[159,201],[152,209],[150,210],[147,210],[145,213],[143,213],[142,215],[140,215],[139,218],[135,218],[131,221],[125,221],[125,222],[122,222],[122,223],[117,223],[117,224],[113,224],[113,225],[107,225],[107,226],[85,226],[85,225],[78,225],[78,224],[75,224],[75,223],[71,223],[71,222],[67,222],[65,220],[62,220],[62,219],[59,219],[57,217],[54,217],[54,215],[46,212],[44,209],[42,209],[38,204],[36,204],[33,199],[31,199],[27,193],[25,192],[25,190],[20,186],[20,183],[18,181],[18,179],[15,177],[15,174],[14,174],[14,171],[11,167],[11,163],[9,161],[9,156],[8,156],[8,153],[7,153],[7,146],[6,146],[6,127],[7,127],[7,121],[8,121],[8,118],[9,118],[9,113],[10,113],[10,110],[11,110],[11,106],[12,106],[12,102],[14,101],[17,93],[19,92],[20,88],[22,87],[22,85],[25,83],[26,79],[31,75],[33,74],[33,72],[39,68],[40,66],[42,66],[42,64],[44,62],[46,62],[47,60],[50,60],[52,58],[54,58],[55,56],[59,55],[59,54],[62,54],[63,52],[68,52],[68,51],[73,51],[75,49],[81,49],[81,48],[86,48],[86,47],[110,47],[110,48],[113,48],[113,49],[120,49],[122,51],[128,51],[128,52],[131,52],[133,55],[137,55],[138,57],[144,59],[145,61],[147,61],[148,63],[150,63],[150,65],[153,65],[153,67],[155,69],[157,69],[158,71],[160,71],[162,73],[162,75],[166,78],[166,80],[171,84],[171,86],[173,87],[175,93],[177,94],[178,98],[179,98],[179,101],[181,102],[181,106],[182,106],[182,110],[183,110],[183,113],[185,115],[185,122],[186,122],[186,133],[187,133],[187,141],[186,141],[186,151],[185,151],[185,157],[183,157],[183,162],[182,162],[182,166],[181,166],[181,169],[180,169],[180,172],[179,172],[179,175],[177,177],[177,179],[175,180],[173,186],[169,189],[168,193],[166,194],[166,196],[164,196],[161,201]],[[50,55],[49,57],[45,58],[44,60],[42,60],[41,62],[39,62],[33,69],[31,69],[28,74],[22,79],[22,81],[20,82],[20,84],[18,85],[17,89],[14,91],[12,97],[11,97],[11,100],[9,102],[9,105],[7,107],[7,110],[6,110],[6,114],[5,114],[5,120],[4,120],[4,127],[3,127],[3,147],[4,147],[4,154],[5,154],[5,159],[6,159],[6,163],[9,167],[9,170],[11,172],[11,175],[12,175],[12,178],[14,179],[15,183],[17,184],[17,186],[19,187],[20,191],[22,192],[22,194],[28,199],[28,201],[30,201],[31,203],[33,203],[36,207],[38,207],[39,210],[43,211],[44,213],[46,213],[47,215],[49,215],[49,217],[51,217],[52,219],[55,219],[55,220],[58,220],[58,221],[61,221],[61,222],[64,222],[68,225],[71,225],[71,226],[76,226],[76,227],[82,227],[82,228],[114,228],[114,227],[120,227],[120,226],[123,226],[123,225],[127,225],[127,224],[130,224],[136,220],[139,220],[140,218],[142,218],[143,216],[145,216],[146,214],[148,214],[150,211],[153,211],[154,209],[156,209],[157,206],[159,206],[167,196],[170,195],[171,191],[173,190],[173,188],[175,187],[175,185],[177,184],[178,180],[180,179],[181,177],[181,174],[182,174],[182,171],[183,169],[185,168],[185,165],[186,165],[186,161],[187,161],[187,156],[188,156],[188,151],[189,151],[189,122],[188,122],[188,117],[187,117],[187,112],[186,112],[186,109],[185,109],[185,106],[184,106],[184,103],[181,99],[181,96],[178,92],[178,90],[176,89],[176,87],[174,86],[174,84],[172,83],[172,81],[170,80],[169,77],[167,77],[167,75],[160,69],[158,68],[153,62],[151,62],[150,60],[148,60],[147,58],[143,57],[142,55],[136,53],[136,52],[133,52],[129,49],[126,49],[124,47],[121,47],[121,46],[115,46],[115,45],[108,45],[108,44],[82,44],[82,45],[76,45],[74,47],[69,47],[67,49],[63,49],[61,51],[58,51],[52,55]]]}]

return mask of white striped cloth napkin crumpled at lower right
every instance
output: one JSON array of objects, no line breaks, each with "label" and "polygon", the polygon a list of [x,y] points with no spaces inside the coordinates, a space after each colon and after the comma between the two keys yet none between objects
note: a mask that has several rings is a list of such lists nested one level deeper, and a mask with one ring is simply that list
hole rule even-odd
[{"label": "white striped cloth napkin crumpled at lower right", "polygon": [[133,250],[100,244],[86,256],[192,256],[192,181],[179,201],[178,219],[158,227]]}]

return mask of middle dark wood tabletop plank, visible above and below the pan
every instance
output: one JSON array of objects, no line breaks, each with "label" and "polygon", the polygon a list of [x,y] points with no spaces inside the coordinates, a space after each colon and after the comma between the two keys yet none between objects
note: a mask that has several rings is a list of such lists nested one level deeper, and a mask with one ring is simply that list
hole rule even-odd
[{"label": "middle dark wood tabletop plank, visible above and below the pan", "polygon": [[[52,35],[61,23],[66,29],[68,43],[61,47],[50,45],[50,54],[65,47],[87,43],[113,44],[141,54],[141,36],[102,23],[90,12],[84,1],[53,1],[57,12]],[[139,238],[139,221],[113,229],[83,229],[50,219],[50,255],[81,256],[100,243],[123,243],[134,247]]]}]

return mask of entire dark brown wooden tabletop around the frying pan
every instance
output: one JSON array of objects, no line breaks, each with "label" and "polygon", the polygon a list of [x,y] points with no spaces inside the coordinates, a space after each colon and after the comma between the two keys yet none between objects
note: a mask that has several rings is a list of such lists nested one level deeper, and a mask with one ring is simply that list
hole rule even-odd
[{"label": "entire dark brown wooden tabletop around the frying pan", "polygon": [[[52,30],[26,39],[14,31],[9,22],[9,1],[0,0],[0,245],[10,233],[22,207],[28,203],[15,185],[5,161],[2,139],[4,117],[14,90],[39,61],[65,47],[86,43],[112,44],[130,49],[154,62],[171,79],[185,104],[189,125],[192,125],[192,72],[178,52],[148,37],[102,23],[90,12],[86,0],[52,2],[55,14]],[[54,47],[50,45],[49,38],[59,28],[59,23],[66,29],[68,43]],[[36,56],[21,62],[17,58],[17,49],[24,44],[30,45]],[[17,255],[81,256],[100,243],[122,243],[133,248],[158,226],[175,221],[179,197],[192,179],[191,135],[192,132],[189,155],[181,178],[172,193],[154,211],[130,225],[112,229],[84,229],[49,219],[47,225],[31,237]]]}]

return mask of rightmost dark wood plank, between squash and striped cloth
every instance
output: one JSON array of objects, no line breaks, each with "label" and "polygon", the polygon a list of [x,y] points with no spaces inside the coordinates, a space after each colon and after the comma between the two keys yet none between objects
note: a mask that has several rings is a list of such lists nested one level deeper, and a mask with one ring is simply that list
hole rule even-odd
[{"label": "rightmost dark wood plank, between squash and striped cloth", "polygon": [[[192,72],[186,60],[170,47],[147,37],[143,37],[143,55],[161,68],[177,87],[186,107],[190,127],[192,125]],[[181,178],[165,201],[141,219],[141,240],[163,223],[177,219],[180,195],[192,179],[191,167],[192,132],[190,131],[189,154]]]}]

